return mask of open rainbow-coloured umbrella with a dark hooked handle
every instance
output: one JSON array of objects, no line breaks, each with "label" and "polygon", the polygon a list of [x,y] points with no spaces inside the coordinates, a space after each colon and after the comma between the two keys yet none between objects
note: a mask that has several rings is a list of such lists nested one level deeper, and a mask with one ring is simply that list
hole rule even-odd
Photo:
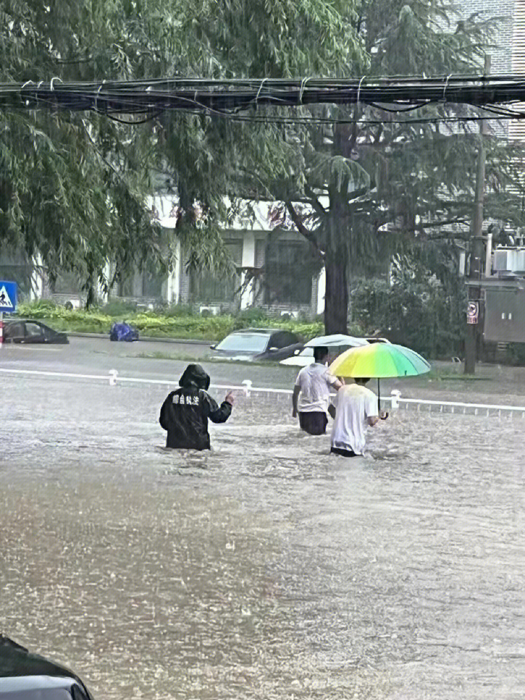
[{"label": "open rainbow-coloured umbrella with a dark hooked handle", "polygon": [[419,353],[394,343],[373,343],[350,348],[341,353],[330,365],[337,377],[377,377],[377,404],[379,380],[386,377],[415,377],[430,370],[429,363]]}]

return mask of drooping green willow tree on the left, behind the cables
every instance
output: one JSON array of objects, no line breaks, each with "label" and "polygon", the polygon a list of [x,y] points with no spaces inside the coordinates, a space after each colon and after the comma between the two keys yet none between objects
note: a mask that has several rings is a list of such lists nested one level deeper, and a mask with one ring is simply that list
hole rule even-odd
[{"label": "drooping green willow tree on the left, behind the cables", "polygon": [[[350,75],[363,64],[356,3],[6,0],[0,79]],[[282,134],[261,125],[240,130],[196,115],[129,122],[45,111],[3,115],[2,243],[39,253],[51,277],[73,269],[87,286],[96,277],[107,284],[106,260],[123,272],[159,255],[159,232],[144,204],[160,172],[177,192],[178,236],[194,265],[224,265],[224,195],[235,203],[243,174],[257,172],[260,162],[280,176],[289,169],[288,151],[296,160]],[[198,230],[196,202],[204,223]]]}]

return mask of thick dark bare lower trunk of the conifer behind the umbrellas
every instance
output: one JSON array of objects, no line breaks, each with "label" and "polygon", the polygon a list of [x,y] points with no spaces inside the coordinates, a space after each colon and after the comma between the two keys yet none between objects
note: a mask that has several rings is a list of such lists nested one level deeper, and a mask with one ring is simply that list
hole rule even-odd
[{"label": "thick dark bare lower trunk of the conifer behind the umbrellas", "polygon": [[324,295],[324,332],[348,332],[348,281],[345,251],[326,254],[326,291]]}]

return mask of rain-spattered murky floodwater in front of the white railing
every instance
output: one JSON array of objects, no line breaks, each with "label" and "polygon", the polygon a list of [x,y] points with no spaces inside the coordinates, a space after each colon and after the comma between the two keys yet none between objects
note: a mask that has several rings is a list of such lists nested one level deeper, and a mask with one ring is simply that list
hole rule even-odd
[{"label": "rain-spattered murky floodwater in front of the white railing", "polygon": [[99,699],[521,699],[525,420],[399,411],[368,458],[239,397],[3,375],[0,633]]}]

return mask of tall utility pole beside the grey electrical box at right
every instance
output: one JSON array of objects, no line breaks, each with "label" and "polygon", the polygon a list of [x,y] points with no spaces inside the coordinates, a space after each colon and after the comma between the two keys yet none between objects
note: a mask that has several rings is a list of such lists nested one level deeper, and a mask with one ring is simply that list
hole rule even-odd
[{"label": "tall utility pole beside the grey electrical box at right", "polygon": [[[491,57],[485,56],[484,76],[490,73]],[[483,271],[483,198],[485,192],[485,150],[484,137],[487,135],[487,120],[480,120],[480,148],[477,151],[474,215],[472,221],[472,246],[470,249],[470,270],[468,279],[480,281]],[[465,374],[474,374],[477,360],[477,340],[480,335],[480,284],[468,286],[467,328],[465,337]],[[477,309],[477,312],[474,311]]]}]

